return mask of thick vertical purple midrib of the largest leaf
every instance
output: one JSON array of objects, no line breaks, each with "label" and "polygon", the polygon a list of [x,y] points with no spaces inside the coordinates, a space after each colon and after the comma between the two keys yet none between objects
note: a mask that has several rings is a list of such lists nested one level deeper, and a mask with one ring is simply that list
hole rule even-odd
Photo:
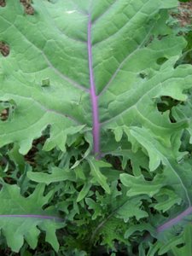
[{"label": "thick vertical purple midrib of the largest leaf", "polygon": [[94,81],[93,63],[92,63],[92,45],[91,45],[91,20],[89,15],[88,28],[87,28],[87,49],[88,61],[90,70],[90,100],[92,103],[92,122],[93,122],[93,150],[96,158],[100,155],[100,124],[99,124],[99,111],[98,111],[98,98],[96,96],[96,84]]}]

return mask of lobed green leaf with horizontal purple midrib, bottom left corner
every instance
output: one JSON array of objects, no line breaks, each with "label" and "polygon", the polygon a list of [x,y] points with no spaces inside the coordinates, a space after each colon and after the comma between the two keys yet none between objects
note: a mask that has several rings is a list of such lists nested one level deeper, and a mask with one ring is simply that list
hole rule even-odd
[{"label": "lobed green leaf with horizontal purple midrib, bottom left corner", "polygon": [[52,192],[44,195],[44,184],[38,184],[32,195],[25,198],[20,195],[18,186],[3,183],[0,191],[0,230],[14,252],[19,252],[24,239],[33,249],[37,247],[40,230],[46,232],[45,240],[58,251],[55,230],[63,227],[63,221],[42,208],[51,195]]}]

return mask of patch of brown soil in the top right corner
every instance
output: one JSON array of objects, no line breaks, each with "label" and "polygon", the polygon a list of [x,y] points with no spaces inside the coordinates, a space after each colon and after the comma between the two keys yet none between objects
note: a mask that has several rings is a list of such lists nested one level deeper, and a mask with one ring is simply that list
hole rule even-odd
[{"label": "patch of brown soil in the top right corner", "polygon": [[176,17],[180,26],[192,25],[192,1],[189,3],[180,3],[178,11],[179,14]]}]

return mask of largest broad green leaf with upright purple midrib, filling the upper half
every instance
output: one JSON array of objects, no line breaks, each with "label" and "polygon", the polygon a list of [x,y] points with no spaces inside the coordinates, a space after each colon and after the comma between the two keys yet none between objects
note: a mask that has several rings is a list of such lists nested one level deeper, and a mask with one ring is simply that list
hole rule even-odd
[{"label": "largest broad green leaf with upright purple midrib, filling the upper half", "polygon": [[99,154],[106,131],[123,125],[143,125],[170,144],[181,125],[158,112],[155,98],[185,100],[192,73],[174,68],[185,42],[158,15],[176,0],[34,0],[34,15],[19,2],[0,9],[0,40],[10,47],[0,57],[0,100],[15,105],[0,123],[1,146],[17,142],[26,154],[48,125],[47,150],[65,151],[68,135],[92,128]]}]

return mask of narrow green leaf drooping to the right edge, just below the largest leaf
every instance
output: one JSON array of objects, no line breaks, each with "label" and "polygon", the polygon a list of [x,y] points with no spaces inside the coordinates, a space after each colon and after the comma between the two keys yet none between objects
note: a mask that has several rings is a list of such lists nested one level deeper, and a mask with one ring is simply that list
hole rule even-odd
[{"label": "narrow green leaf drooping to the right edge, just below the largest leaf", "polygon": [[[160,163],[165,166],[164,170],[164,185],[172,184],[177,195],[183,198],[186,201],[188,206],[191,205],[191,181],[189,177],[191,177],[191,168],[184,164],[178,164],[176,157],[182,158],[182,153],[178,152],[178,147],[180,143],[177,145],[177,140],[180,141],[180,137],[177,137],[176,142],[174,142],[174,148],[166,148],[163,147],[157,140],[154,139],[153,135],[148,132],[148,130],[139,127],[132,127],[129,130],[126,130],[126,133],[131,140],[133,147],[145,148],[148,152],[149,156],[149,168],[151,171],[154,171]],[[173,139],[175,139],[173,137]],[[177,147],[178,146],[178,147]],[[171,153],[168,153],[168,151]],[[179,155],[181,154],[181,155]]]}]

